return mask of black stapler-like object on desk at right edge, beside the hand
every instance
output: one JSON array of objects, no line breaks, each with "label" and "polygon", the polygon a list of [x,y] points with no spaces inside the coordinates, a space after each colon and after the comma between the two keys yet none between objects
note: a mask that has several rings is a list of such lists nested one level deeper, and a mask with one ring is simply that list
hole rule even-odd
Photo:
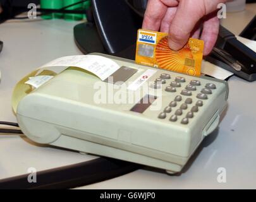
[{"label": "black stapler-like object on desk at right edge, beside the hand", "polygon": [[256,80],[256,53],[222,26],[216,46],[205,59],[247,81]]}]

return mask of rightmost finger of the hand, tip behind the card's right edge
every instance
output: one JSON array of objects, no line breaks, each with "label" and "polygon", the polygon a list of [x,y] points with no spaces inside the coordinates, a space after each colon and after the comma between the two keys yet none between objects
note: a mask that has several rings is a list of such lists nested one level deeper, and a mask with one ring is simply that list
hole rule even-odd
[{"label": "rightmost finger of the hand, tip behind the card's right edge", "polygon": [[204,28],[201,39],[204,40],[204,56],[207,56],[212,51],[216,44],[219,33],[219,18],[216,13],[209,16],[209,19],[204,21]]}]

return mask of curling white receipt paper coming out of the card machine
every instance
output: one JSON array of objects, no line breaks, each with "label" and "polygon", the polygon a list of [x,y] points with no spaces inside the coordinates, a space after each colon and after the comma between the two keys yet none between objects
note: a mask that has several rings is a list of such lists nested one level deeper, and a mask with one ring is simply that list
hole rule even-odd
[{"label": "curling white receipt paper coming out of the card machine", "polygon": [[[54,69],[54,71],[49,70],[56,67],[58,67],[58,69]],[[120,68],[116,62],[102,56],[66,56],[55,59],[35,71],[32,71],[32,73],[25,76],[16,84],[11,100],[15,114],[21,98],[32,92],[33,88],[38,88],[40,85],[51,80],[51,78],[56,76],[57,72],[64,71],[69,67],[84,69],[85,71],[95,74],[102,81],[106,80]]]}]

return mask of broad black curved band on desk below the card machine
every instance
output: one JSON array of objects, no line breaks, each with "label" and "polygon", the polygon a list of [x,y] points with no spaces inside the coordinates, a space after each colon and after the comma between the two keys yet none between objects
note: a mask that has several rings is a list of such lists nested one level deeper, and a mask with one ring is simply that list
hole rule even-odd
[{"label": "broad black curved band on desk below the card machine", "polygon": [[142,165],[136,163],[101,157],[37,172],[35,183],[28,182],[28,174],[3,179],[0,189],[70,189],[113,179],[140,168]]}]

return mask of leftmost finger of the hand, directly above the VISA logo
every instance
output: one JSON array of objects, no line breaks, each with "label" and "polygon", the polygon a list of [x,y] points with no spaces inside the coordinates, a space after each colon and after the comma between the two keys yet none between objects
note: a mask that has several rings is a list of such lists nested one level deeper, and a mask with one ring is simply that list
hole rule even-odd
[{"label": "leftmost finger of the hand, directly above the VISA logo", "polygon": [[142,28],[146,30],[158,31],[162,18],[164,18],[167,9],[168,7],[160,0],[149,0],[142,23]]}]

